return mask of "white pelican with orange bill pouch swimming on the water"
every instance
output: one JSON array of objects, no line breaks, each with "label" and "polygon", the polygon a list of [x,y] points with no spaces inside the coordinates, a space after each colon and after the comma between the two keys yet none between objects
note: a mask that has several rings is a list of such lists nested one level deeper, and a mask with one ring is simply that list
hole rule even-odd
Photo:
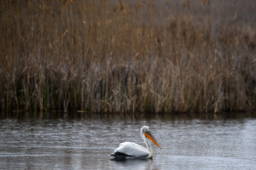
[{"label": "white pelican with orange bill pouch swimming on the water", "polygon": [[[141,128],[141,136],[143,138],[144,143],[146,144],[147,148],[139,144],[135,144],[132,142],[124,142],[116,148],[110,156],[113,156],[114,159],[117,160],[124,160],[125,158],[152,158],[153,157],[153,150],[151,148],[151,144],[149,144],[148,139],[151,139],[155,145],[160,147],[154,136],[149,132],[148,126],[143,126]],[[160,147],[160,149],[162,149]]]}]

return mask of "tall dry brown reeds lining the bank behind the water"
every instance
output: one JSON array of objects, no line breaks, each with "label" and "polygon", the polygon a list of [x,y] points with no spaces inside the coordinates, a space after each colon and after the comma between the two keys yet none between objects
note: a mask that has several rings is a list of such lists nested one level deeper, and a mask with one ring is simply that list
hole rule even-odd
[{"label": "tall dry brown reeds lining the bank behind the water", "polygon": [[2,1],[1,110],[255,110],[255,23],[193,6]]}]

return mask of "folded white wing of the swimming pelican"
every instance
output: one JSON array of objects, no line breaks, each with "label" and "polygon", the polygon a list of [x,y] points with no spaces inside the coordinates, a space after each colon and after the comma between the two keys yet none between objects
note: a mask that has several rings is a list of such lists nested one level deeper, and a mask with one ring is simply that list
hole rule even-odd
[{"label": "folded white wing of the swimming pelican", "polygon": [[119,147],[114,150],[114,153],[121,153],[127,156],[136,157],[147,157],[149,155],[149,152],[146,148],[132,142],[124,142],[120,144]]}]

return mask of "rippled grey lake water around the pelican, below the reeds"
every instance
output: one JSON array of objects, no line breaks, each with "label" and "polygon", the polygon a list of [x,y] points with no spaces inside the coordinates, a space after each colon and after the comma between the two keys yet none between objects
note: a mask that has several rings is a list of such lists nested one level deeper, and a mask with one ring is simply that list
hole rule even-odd
[{"label": "rippled grey lake water around the pelican, below the reeds", "polygon": [[[153,160],[112,161],[125,141],[143,144],[150,127],[162,150]],[[0,118],[0,169],[255,169],[256,118],[73,113]]]}]

